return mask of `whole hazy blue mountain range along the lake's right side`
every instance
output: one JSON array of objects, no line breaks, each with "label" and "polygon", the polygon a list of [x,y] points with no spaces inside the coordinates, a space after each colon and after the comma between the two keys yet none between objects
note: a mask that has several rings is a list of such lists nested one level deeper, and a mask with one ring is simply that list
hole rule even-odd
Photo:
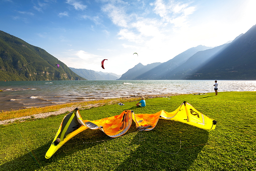
[{"label": "whole hazy blue mountain range along the lake's right side", "polygon": [[[164,63],[135,65],[119,80],[256,79],[256,25],[218,47],[199,45]],[[156,65],[155,67],[150,67]],[[135,75],[136,73],[136,75]]]}]

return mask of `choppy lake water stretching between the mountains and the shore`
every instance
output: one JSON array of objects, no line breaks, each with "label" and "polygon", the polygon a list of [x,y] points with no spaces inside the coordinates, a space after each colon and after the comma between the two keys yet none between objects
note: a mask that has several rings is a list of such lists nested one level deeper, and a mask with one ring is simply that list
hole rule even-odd
[{"label": "choppy lake water stretching between the mountains and the shore", "polygon": [[[214,92],[214,80],[1,81],[0,111],[149,94]],[[256,91],[256,81],[218,80],[218,92]]]}]

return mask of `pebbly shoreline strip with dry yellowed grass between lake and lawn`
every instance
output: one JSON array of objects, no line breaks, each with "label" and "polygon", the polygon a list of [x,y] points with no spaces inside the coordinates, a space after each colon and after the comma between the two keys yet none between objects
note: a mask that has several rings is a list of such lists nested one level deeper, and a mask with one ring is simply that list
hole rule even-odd
[{"label": "pebbly shoreline strip with dry yellowed grass between lake and lawn", "polygon": [[[26,119],[38,119],[38,118],[46,118],[48,116],[51,115],[60,115],[63,114],[67,111],[72,111],[75,108],[79,108],[79,109],[89,109],[91,107],[99,107],[99,106],[103,106],[106,103],[110,103],[110,104],[115,104],[119,99],[123,100],[129,100],[129,99],[134,99],[134,98],[140,98],[140,97],[145,97],[145,98],[157,98],[157,97],[166,97],[166,96],[178,96],[178,95],[187,95],[187,94],[157,94],[157,95],[132,95],[132,96],[127,96],[127,97],[117,97],[117,98],[109,98],[107,100],[110,100],[109,102],[105,102],[105,103],[99,103],[99,100],[91,100],[91,101],[87,101],[89,102],[88,105],[83,105],[83,102],[70,102],[70,103],[66,103],[65,105],[69,105],[68,107],[63,107],[60,108],[56,111],[53,112],[45,112],[45,113],[38,113],[38,114],[33,114],[33,115],[28,115],[28,116],[22,116],[22,117],[18,117],[18,118],[12,118],[12,119],[6,119],[6,120],[0,120],[0,125],[6,125],[9,123],[13,123],[15,121],[26,121]],[[136,99],[137,100],[137,99]],[[136,100],[132,100],[132,101],[136,101]],[[98,101],[98,103],[97,103]],[[95,103],[94,103],[95,102]],[[62,104],[59,105],[49,105],[49,106],[44,106],[44,107],[54,107],[54,106],[60,106]],[[44,107],[39,107],[40,108],[44,108]],[[28,109],[17,109],[14,110],[15,112],[19,111],[19,110],[28,110]],[[4,112],[10,112],[10,111],[4,111]]]}]

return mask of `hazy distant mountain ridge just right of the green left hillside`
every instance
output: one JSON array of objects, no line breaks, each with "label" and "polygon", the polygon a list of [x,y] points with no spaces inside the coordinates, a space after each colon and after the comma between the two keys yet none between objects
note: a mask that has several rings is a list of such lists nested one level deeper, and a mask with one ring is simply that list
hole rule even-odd
[{"label": "hazy distant mountain ridge just right of the green left hillside", "polygon": [[88,80],[116,80],[116,79],[118,79],[118,77],[111,75],[109,73],[104,74],[102,72],[103,74],[101,75],[93,70],[76,69],[76,68],[72,68],[72,67],[69,67],[69,68],[77,75],[79,75],[83,78],[86,78]]}]

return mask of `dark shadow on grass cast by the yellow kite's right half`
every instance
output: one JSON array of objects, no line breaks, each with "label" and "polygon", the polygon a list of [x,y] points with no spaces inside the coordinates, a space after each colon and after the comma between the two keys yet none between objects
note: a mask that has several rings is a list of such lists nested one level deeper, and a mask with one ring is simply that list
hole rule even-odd
[{"label": "dark shadow on grass cast by the yellow kite's right half", "polygon": [[186,170],[208,141],[206,130],[163,119],[159,119],[153,130],[140,134],[145,141],[140,141],[138,148],[116,170]]}]

